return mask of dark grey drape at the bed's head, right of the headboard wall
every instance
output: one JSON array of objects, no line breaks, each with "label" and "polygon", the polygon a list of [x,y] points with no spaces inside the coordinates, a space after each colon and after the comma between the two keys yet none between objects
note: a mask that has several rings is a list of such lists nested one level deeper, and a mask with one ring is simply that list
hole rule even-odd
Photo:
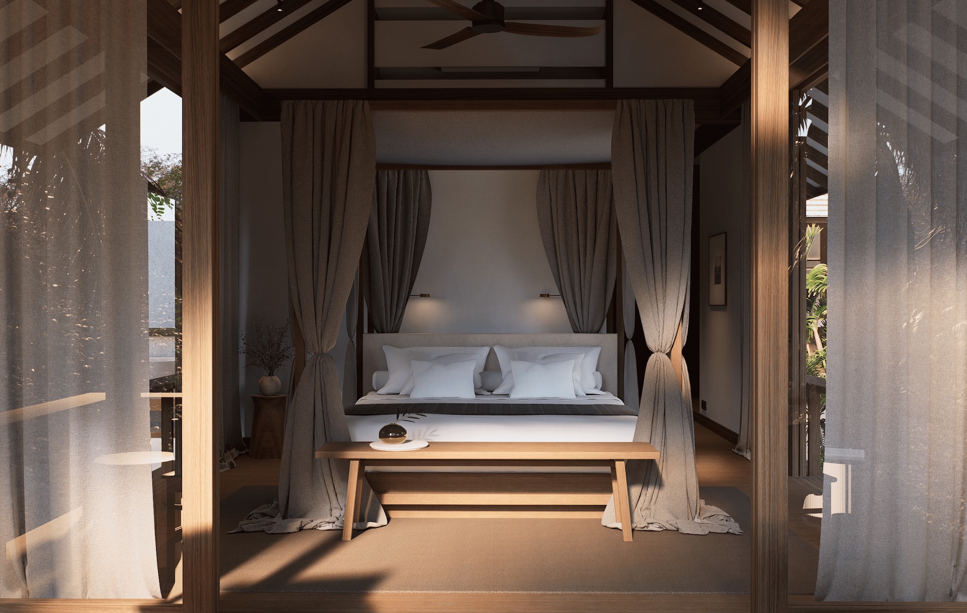
[{"label": "dark grey drape at the bed's head, right of the headboard wall", "polygon": [[617,235],[611,171],[542,170],[538,224],[575,333],[601,332],[614,293]]}]

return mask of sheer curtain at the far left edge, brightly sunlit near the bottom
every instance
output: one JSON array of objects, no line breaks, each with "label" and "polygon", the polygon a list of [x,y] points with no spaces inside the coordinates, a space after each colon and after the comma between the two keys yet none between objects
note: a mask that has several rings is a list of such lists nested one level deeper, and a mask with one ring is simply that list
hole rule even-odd
[{"label": "sheer curtain at the far left edge, brightly sunlit near the bottom", "polygon": [[0,13],[0,598],[157,598],[145,5]]}]

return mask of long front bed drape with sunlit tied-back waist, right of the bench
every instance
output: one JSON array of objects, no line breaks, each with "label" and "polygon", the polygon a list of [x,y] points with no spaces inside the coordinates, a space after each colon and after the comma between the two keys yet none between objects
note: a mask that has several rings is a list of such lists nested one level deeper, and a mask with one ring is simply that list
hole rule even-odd
[{"label": "long front bed drape with sunlit tied-back waist, right of the bench", "polygon": [[[691,259],[691,101],[620,101],[611,135],[614,206],[628,277],[641,312],[648,359],[635,441],[650,442],[658,460],[629,462],[635,530],[688,534],[741,533],[724,511],[698,498],[689,369],[679,384],[671,352],[679,325],[688,339]],[[614,501],[601,523],[617,528]]]}]

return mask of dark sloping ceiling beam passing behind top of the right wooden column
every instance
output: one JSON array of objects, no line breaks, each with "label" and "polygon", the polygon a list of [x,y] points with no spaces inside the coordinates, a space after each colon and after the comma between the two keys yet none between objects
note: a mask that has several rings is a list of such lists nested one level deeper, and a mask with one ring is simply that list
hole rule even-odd
[{"label": "dark sloping ceiling beam passing behind top of the right wooden column", "polygon": [[[829,0],[811,0],[789,19],[790,88],[805,86],[829,66]],[[723,116],[731,115],[751,95],[751,62],[728,77],[718,88]]]}]

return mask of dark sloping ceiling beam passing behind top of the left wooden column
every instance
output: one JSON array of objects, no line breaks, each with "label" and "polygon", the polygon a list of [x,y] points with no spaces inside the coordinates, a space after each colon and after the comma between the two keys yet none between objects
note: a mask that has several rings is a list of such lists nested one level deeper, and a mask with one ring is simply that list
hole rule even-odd
[{"label": "dark sloping ceiling beam passing behind top of the left wooden column", "polygon": [[[181,95],[181,14],[167,0],[148,0],[148,76]],[[261,119],[262,88],[229,60],[220,58],[221,91],[251,118]]]}]

